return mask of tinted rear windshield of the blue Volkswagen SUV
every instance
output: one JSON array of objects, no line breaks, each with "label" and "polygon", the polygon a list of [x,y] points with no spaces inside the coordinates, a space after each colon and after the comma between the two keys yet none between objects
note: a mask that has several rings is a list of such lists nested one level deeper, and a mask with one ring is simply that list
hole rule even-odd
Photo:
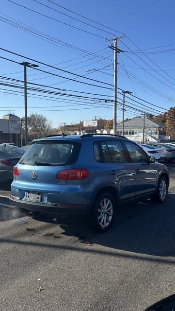
[{"label": "tinted rear windshield of the blue Volkswagen SUV", "polygon": [[36,141],[26,151],[20,164],[60,166],[77,161],[81,144],[72,141]]}]

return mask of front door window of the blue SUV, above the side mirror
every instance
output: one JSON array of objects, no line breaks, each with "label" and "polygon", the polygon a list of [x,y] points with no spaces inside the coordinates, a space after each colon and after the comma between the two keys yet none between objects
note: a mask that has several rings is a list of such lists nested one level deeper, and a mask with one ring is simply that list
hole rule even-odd
[{"label": "front door window of the blue SUV, above the side mirror", "polygon": [[148,163],[146,154],[144,153],[143,149],[141,149],[138,145],[133,144],[130,141],[125,141],[125,145],[127,147],[132,162]]}]

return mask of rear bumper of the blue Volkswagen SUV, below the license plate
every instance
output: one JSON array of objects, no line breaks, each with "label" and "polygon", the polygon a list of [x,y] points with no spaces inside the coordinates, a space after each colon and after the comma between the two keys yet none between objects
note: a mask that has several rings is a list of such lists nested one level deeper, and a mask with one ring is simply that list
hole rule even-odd
[{"label": "rear bumper of the blue Volkswagen SUV, below the license plate", "polygon": [[87,216],[92,212],[92,207],[87,204],[81,204],[77,207],[62,207],[57,203],[35,203],[19,199],[18,197],[10,197],[11,205],[24,212],[38,211],[44,214],[64,215],[64,216]]}]

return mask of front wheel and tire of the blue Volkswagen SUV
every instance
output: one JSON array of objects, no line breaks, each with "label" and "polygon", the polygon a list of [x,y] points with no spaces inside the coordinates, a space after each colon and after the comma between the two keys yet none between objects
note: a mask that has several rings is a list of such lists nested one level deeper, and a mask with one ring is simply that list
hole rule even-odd
[{"label": "front wheel and tire of the blue Volkswagen SUV", "polygon": [[152,199],[155,203],[163,203],[166,201],[168,195],[168,183],[164,176],[160,177],[158,182],[158,189]]}]

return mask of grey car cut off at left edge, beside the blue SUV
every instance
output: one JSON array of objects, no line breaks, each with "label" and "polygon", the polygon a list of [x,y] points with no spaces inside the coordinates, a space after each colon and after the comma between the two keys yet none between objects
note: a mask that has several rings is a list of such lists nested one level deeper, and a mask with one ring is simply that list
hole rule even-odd
[{"label": "grey car cut off at left edge, beside the blue SUV", "polygon": [[13,145],[0,144],[0,182],[13,177],[13,167],[25,151]]}]

